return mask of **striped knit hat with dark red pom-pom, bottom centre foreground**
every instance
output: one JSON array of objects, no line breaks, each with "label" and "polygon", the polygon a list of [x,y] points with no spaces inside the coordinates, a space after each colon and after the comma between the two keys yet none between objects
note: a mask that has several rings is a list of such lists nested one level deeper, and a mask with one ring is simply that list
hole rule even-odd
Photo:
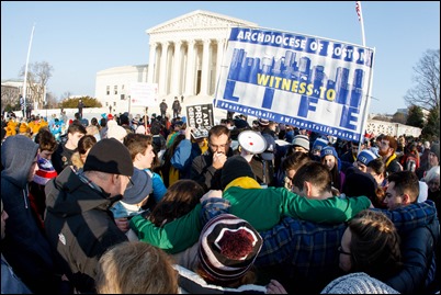
[{"label": "striped knit hat with dark red pom-pom, bottom centre foreground", "polygon": [[246,274],[261,247],[262,238],[248,222],[222,214],[202,229],[199,258],[202,269],[211,277],[229,282]]}]

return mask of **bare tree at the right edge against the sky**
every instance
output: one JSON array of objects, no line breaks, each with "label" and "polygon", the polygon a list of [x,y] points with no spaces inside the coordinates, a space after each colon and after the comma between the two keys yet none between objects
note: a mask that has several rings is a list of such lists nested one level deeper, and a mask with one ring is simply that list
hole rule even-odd
[{"label": "bare tree at the right edge against the sky", "polygon": [[440,106],[440,49],[428,49],[417,66],[412,77],[416,86],[404,98],[408,105],[418,105],[430,111]]}]

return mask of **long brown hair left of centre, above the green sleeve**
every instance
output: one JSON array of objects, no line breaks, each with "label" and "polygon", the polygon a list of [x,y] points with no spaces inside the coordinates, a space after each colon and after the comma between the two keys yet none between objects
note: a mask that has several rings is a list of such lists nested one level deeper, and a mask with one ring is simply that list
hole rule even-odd
[{"label": "long brown hair left of centre, above the green sleeve", "polygon": [[149,215],[150,222],[160,227],[188,214],[199,204],[204,193],[204,189],[194,180],[178,180],[155,206]]}]

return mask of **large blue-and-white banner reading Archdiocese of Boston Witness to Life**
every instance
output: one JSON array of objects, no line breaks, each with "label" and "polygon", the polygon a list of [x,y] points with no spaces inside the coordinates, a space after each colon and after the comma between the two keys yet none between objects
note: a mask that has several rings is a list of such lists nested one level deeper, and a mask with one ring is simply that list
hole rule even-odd
[{"label": "large blue-and-white banner reading Archdiocese of Boston Witness to Life", "polygon": [[214,106],[360,140],[374,49],[321,37],[233,27]]}]

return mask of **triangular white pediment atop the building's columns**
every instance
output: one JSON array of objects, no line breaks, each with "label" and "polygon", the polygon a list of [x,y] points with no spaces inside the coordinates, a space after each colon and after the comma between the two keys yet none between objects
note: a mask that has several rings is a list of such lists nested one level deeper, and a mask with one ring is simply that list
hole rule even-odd
[{"label": "triangular white pediment atop the building's columns", "polygon": [[208,11],[196,10],[147,30],[147,34],[228,26],[257,26],[256,23]]}]

